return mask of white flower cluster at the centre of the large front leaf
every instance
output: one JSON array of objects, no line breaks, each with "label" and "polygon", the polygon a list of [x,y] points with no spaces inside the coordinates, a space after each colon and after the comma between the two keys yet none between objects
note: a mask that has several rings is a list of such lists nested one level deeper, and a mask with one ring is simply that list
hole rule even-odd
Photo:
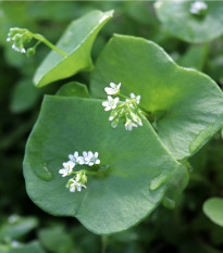
[{"label": "white flower cluster at the centre of the large front leaf", "polygon": [[84,151],[83,156],[80,156],[78,155],[78,152],[75,151],[74,154],[69,155],[69,159],[70,161],[63,163],[63,168],[61,168],[59,173],[62,174],[62,177],[75,174],[75,176],[71,178],[66,184],[66,188],[69,188],[71,192],[75,192],[75,190],[80,191],[82,188],[86,188],[86,174],[88,173],[88,170],[80,169],[74,172],[73,168],[77,165],[94,166],[100,164],[100,160],[98,159],[98,152],[92,153],[91,151]]}]

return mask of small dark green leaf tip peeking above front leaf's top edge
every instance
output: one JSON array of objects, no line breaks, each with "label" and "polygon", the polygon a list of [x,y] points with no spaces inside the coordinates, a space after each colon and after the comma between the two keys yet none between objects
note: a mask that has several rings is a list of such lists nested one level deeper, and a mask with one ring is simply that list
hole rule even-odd
[{"label": "small dark green leaf tip peeking above front leaf's top edge", "polygon": [[57,94],[63,97],[89,98],[87,86],[78,81],[71,81],[66,85],[63,85],[58,90]]}]

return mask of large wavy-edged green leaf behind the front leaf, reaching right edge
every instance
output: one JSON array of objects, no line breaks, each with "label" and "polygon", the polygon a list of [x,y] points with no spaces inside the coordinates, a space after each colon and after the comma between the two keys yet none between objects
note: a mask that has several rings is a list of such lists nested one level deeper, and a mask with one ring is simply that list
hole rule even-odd
[{"label": "large wavy-edged green leaf behind the front leaf, reaching right edge", "polygon": [[106,98],[104,87],[122,83],[121,92],[141,96],[156,129],[175,159],[197,152],[223,126],[223,94],[216,84],[195,69],[176,65],[156,43],[115,35],[91,74],[90,94]]}]

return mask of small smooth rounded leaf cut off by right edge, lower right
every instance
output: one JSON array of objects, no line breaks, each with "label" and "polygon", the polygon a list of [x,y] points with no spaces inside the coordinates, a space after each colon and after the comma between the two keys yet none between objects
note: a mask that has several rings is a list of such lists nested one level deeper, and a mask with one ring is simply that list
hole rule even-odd
[{"label": "small smooth rounded leaf cut off by right edge, lower right", "polygon": [[223,199],[211,198],[203,203],[203,213],[215,224],[223,227]]}]

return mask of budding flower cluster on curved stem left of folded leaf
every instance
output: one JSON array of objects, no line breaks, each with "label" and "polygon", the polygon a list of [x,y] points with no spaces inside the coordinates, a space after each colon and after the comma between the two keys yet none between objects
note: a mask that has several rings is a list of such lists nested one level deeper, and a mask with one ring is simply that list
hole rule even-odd
[{"label": "budding flower cluster on curved stem left of folded leaf", "polygon": [[26,53],[25,46],[29,43],[32,39],[33,36],[29,30],[15,27],[10,28],[7,41],[13,42],[12,49],[14,49],[15,51]]}]

